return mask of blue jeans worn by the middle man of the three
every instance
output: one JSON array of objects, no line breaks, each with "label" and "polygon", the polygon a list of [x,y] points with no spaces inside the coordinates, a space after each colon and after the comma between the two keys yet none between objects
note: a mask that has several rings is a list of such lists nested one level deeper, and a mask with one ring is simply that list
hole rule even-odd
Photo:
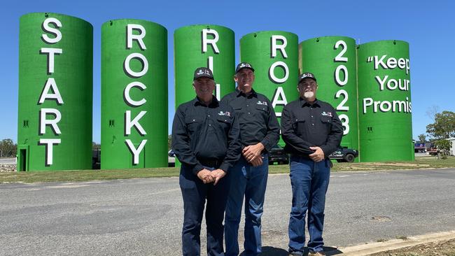
[{"label": "blue jeans worn by the middle man of the three", "polygon": [[253,167],[242,156],[230,169],[230,191],[225,217],[226,256],[239,255],[239,222],[245,197],[245,255],[261,251],[260,218],[264,207],[269,158],[262,154],[262,165]]}]

